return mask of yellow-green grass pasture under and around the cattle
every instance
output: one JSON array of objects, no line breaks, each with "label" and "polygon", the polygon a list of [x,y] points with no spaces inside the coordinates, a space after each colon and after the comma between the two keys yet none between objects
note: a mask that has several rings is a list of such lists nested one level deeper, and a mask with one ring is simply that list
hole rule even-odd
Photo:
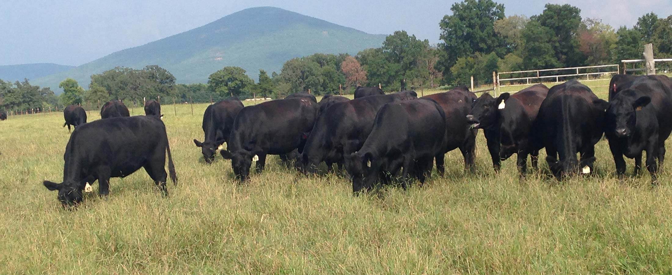
[{"label": "yellow-green grass pasture under and around the cattle", "polygon": [[[601,97],[607,84],[589,82]],[[648,173],[620,183],[606,141],[593,178],[519,182],[515,158],[493,172],[479,133],[476,174],[453,151],[444,178],[355,198],[347,178],[299,176],[275,156],[236,184],[230,162],[205,165],[192,142],[205,108],[163,106],[171,196],[141,169],[113,179],[107,199],[93,185],[73,211],[42,186],[62,181],[62,113],[0,122],[0,273],[672,273],[670,170],[655,188]]]}]

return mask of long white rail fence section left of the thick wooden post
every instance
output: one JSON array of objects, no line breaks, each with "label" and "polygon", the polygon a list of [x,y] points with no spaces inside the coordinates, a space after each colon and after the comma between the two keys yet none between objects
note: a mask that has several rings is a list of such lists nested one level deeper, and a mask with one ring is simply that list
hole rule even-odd
[{"label": "long white rail fence section left of the thick wooden post", "polygon": [[[590,69],[597,69],[597,72],[589,72]],[[601,71],[605,69],[605,71]],[[614,71],[614,69],[616,69]],[[581,72],[580,70],[584,70]],[[564,73],[560,73],[566,71]],[[571,71],[571,73],[569,73]],[[546,74],[546,72],[555,72],[555,74]],[[620,65],[598,65],[598,66],[583,66],[583,67],[567,67],[567,68],[555,68],[555,69],[540,69],[540,70],[528,70],[528,71],[509,71],[497,73],[497,87],[507,86],[519,86],[519,85],[530,85],[543,82],[542,79],[550,79],[550,81],[555,80],[556,83],[561,80],[564,81],[566,77],[581,77],[585,76],[586,78],[582,81],[593,81],[599,80],[597,77],[595,79],[590,79],[591,75],[607,75],[607,74],[617,74],[620,72]],[[536,73],[536,75],[528,77],[511,77],[514,74],[530,74]],[[503,75],[509,75],[509,78],[501,78]],[[535,82],[536,80],[536,82]],[[509,81],[509,85],[502,85],[502,81]],[[547,81],[547,82],[550,82]],[[525,82],[525,83],[515,83],[515,82]],[[513,84],[512,84],[513,83]]]}]

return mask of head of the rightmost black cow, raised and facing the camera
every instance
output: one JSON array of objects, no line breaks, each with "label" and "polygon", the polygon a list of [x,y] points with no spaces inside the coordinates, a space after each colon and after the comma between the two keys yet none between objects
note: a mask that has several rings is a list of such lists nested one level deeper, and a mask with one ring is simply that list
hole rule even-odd
[{"label": "head of the rightmost black cow, raised and facing the camera", "polygon": [[[607,136],[626,137],[630,136],[635,130],[637,123],[637,114],[651,102],[651,98],[643,95],[637,95],[633,90],[625,90],[616,93],[612,102],[593,103],[600,108],[607,110],[605,131]],[[599,105],[601,104],[601,105]]]}]

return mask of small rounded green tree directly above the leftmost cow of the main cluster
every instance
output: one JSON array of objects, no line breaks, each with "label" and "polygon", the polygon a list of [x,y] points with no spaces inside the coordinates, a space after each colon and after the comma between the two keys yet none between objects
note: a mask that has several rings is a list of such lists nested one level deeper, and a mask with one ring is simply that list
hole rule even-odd
[{"label": "small rounded green tree directly above the leftmost cow of the main cluster", "polygon": [[249,96],[249,89],[254,81],[245,74],[241,67],[224,67],[208,77],[210,91],[222,96],[233,95],[237,97]]}]

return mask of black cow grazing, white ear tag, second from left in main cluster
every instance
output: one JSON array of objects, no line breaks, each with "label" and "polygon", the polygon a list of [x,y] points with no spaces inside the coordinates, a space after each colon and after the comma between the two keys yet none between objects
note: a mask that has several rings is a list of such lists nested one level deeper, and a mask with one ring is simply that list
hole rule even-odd
[{"label": "black cow grazing, white ear tag, second from left in main cluster", "polygon": [[233,122],[228,149],[220,151],[231,159],[236,178],[245,181],[252,161],[263,171],[266,155],[284,155],[302,150],[305,133],[312,130],[319,105],[304,97],[271,100],[243,108]]}]

